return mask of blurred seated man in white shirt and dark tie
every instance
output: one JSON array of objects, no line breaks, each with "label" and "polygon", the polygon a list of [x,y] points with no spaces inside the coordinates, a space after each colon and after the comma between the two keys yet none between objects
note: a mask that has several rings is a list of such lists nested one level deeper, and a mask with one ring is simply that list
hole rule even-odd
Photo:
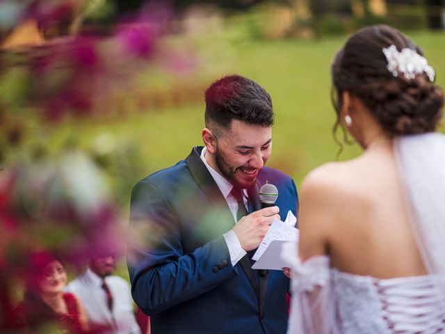
[{"label": "blurred seated man in white shirt and dark tie", "polygon": [[85,305],[92,330],[140,334],[129,284],[123,278],[111,275],[115,269],[114,253],[94,255],[88,269],[70,282],[67,290],[79,296]]}]

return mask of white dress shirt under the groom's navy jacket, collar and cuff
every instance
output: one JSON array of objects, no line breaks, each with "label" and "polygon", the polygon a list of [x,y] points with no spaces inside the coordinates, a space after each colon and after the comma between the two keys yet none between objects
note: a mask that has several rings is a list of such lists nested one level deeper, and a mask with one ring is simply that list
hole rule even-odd
[{"label": "white dress shirt under the groom's navy jacket, collar and cuff", "polygon": [[[230,193],[234,186],[232,183],[225,180],[225,178],[222,175],[220,175],[220,173],[211,168],[211,166],[207,163],[205,159],[206,151],[207,148],[204,147],[201,152],[201,160],[202,162],[204,162],[204,166],[206,166],[206,168],[209,170],[210,175],[213,177],[213,180],[215,180],[216,185],[220,189],[221,193],[223,193],[227,205],[229,205],[230,212],[232,212],[232,216],[234,217],[234,221],[235,223],[237,223],[236,212],[238,212],[238,201]],[[243,200],[246,209],[248,209],[247,199],[248,199],[248,192],[247,190],[243,189]],[[234,230],[229,230],[229,232],[223,234],[223,237],[225,239],[225,243],[227,244],[227,248],[229,248],[230,260],[232,262],[232,266],[235,266],[235,264],[237,264],[238,261],[241,260],[241,258],[247,253],[241,247],[241,244],[239,243],[238,237],[236,237]]]}]

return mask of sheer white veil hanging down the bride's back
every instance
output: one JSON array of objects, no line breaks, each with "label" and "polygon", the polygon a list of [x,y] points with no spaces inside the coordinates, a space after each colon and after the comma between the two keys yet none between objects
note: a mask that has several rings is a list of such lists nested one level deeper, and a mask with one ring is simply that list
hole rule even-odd
[{"label": "sheer white veil hanging down the bride's back", "polygon": [[401,136],[394,153],[414,237],[445,309],[445,136]]}]

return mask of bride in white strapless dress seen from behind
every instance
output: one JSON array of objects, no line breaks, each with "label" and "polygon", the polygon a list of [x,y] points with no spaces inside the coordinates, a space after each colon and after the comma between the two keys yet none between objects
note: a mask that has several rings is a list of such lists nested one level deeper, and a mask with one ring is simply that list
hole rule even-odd
[{"label": "bride in white strapless dress seen from behind", "polygon": [[444,94],[389,26],[355,33],[332,64],[337,125],[362,146],[300,190],[288,333],[445,333]]}]

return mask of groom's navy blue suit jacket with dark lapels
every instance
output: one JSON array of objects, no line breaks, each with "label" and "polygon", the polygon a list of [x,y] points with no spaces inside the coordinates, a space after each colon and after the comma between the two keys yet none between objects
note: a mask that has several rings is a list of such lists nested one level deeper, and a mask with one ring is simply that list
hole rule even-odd
[{"label": "groom's navy blue suit jacket with dark lapels", "polygon": [[[261,292],[258,271],[249,269],[252,281],[241,262],[232,267],[223,234],[234,219],[201,150],[133,188],[129,228],[137,238],[127,255],[133,299],[151,316],[154,334],[285,333],[289,279],[269,271]],[[250,193],[250,211],[261,208],[257,190],[266,181],[277,186],[282,219],[289,210],[296,214],[293,180],[267,167]]]}]

